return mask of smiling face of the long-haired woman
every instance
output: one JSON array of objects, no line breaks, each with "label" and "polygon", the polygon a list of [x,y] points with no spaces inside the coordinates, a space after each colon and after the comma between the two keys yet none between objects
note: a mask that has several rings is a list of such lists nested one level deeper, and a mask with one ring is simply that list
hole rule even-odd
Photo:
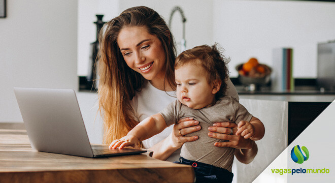
[{"label": "smiling face of the long-haired woman", "polygon": [[163,83],[165,52],[157,36],[145,27],[127,26],[121,29],[117,43],[128,67],[147,80]]}]

